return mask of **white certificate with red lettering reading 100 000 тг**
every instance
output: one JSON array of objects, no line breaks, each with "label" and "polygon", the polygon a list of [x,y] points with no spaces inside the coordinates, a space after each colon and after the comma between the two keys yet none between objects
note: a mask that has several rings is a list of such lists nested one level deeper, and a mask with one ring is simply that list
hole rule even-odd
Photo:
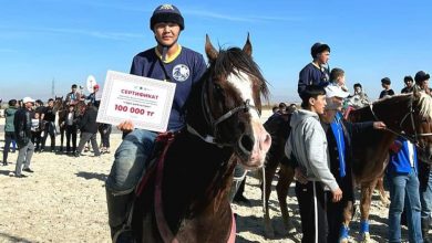
[{"label": "white certificate with red lettering reading 100 000 \u0442\u0433", "polygon": [[175,83],[107,71],[96,122],[166,131],[174,93]]}]

